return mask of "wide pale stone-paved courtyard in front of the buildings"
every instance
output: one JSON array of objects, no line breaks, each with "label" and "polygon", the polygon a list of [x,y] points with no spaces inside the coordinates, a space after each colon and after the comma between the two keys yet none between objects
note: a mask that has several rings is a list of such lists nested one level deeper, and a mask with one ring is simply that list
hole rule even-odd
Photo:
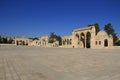
[{"label": "wide pale stone-paved courtyard in front of the buildings", "polygon": [[119,80],[120,49],[0,46],[0,80]]}]

